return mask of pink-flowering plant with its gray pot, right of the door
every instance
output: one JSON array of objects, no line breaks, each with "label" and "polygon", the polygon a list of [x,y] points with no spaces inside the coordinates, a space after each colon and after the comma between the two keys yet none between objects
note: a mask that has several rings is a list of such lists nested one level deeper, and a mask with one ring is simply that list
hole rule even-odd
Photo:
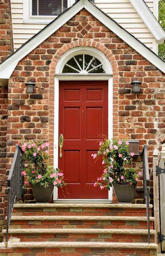
[{"label": "pink-flowering plant with its gray pot, right of the door", "polygon": [[132,168],[134,153],[128,152],[129,142],[105,138],[99,145],[99,151],[97,154],[92,154],[92,157],[94,159],[102,157],[105,168],[94,186],[109,190],[113,185],[118,202],[131,203],[135,196],[138,176],[142,172],[137,173]]}]

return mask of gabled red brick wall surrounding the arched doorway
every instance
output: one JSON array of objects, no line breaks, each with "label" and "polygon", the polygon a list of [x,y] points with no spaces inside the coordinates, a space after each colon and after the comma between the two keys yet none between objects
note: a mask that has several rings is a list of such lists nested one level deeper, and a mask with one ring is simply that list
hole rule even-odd
[{"label": "gabled red brick wall surrounding the arched doorway", "polygon": [[[140,139],[140,151],[144,144],[148,144],[152,173],[153,150],[165,137],[164,74],[86,10],[79,12],[19,61],[11,75],[8,87],[7,168],[11,166],[11,153],[15,151],[19,139],[49,140],[53,159],[53,134],[57,132],[54,131],[55,67],[65,51],[78,46],[97,48],[111,62],[113,136]],[[140,94],[131,92],[134,77],[142,82]],[[26,94],[27,81],[36,83],[34,94]],[[141,169],[140,157],[135,158],[134,166]],[[141,186],[142,181],[139,181],[136,202],[142,202]]]}]

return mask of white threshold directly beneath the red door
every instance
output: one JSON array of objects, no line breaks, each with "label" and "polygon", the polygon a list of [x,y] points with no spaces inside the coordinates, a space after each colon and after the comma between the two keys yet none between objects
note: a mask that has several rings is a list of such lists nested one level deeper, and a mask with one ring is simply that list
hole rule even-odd
[{"label": "white threshold directly beneath the red door", "polygon": [[54,203],[112,203],[109,199],[57,199]]}]

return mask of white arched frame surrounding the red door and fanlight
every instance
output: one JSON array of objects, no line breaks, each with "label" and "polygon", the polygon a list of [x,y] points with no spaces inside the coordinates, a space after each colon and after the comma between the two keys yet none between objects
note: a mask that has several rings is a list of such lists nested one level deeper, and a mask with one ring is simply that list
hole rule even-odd
[{"label": "white arched frame surrounding the red door and fanlight", "polygon": [[[105,74],[62,74],[65,63],[75,55],[89,54],[95,56],[103,63],[105,68]],[[58,110],[59,110],[59,81],[108,81],[108,138],[113,137],[113,71],[111,63],[105,55],[92,47],[76,47],[66,51],[57,62],[55,69],[55,83],[54,83],[54,168],[58,167]],[[112,203],[112,188],[108,192],[108,199],[58,199],[58,188],[54,187],[53,201],[65,202],[65,201],[88,201],[88,202],[111,202]]]}]

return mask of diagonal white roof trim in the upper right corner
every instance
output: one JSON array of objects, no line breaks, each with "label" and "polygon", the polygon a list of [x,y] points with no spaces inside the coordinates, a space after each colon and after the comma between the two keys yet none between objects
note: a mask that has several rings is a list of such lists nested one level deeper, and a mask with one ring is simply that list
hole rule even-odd
[{"label": "diagonal white roof trim in the upper right corner", "polygon": [[129,0],[129,2],[155,37],[157,43],[164,43],[165,32],[144,0]]}]

